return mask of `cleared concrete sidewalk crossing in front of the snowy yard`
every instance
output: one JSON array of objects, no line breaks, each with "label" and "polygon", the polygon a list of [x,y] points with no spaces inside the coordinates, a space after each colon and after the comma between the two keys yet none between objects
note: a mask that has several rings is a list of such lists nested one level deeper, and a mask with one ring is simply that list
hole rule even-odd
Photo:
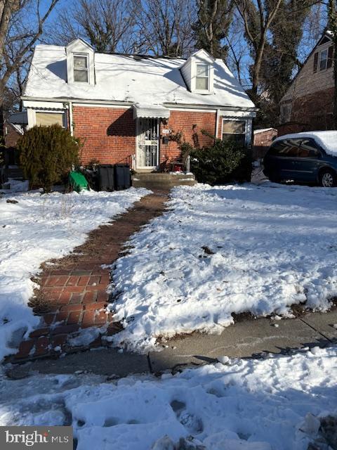
[{"label": "cleared concrete sidewalk crossing in front of the snowy yard", "polygon": [[[275,323],[278,325],[275,327]],[[133,373],[161,373],[231,358],[265,357],[271,354],[293,354],[300,348],[327,347],[337,342],[337,309],[326,314],[308,313],[300,319],[247,319],[223,330],[221,335],[193,333],[166,342],[161,352],[148,354],[120,353],[117,349],[68,354],[61,359],[37,359],[24,366],[15,365],[8,372],[22,378],[30,371],[40,373],[74,373],[88,371],[109,378]]]}]

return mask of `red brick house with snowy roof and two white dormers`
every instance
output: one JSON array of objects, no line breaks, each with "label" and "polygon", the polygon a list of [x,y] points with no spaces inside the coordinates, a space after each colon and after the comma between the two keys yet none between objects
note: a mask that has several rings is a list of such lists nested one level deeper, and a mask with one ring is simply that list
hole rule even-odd
[{"label": "red brick house with snowy roof and two white dormers", "polygon": [[38,45],[22,97],[28,128],[58,123],[84,141],[82,162],[156,169],[179,156],[170,134],[200,146],[251,144],[256,108],[223,60],[199,50],[187,60],[95,53],[82,39]]}]

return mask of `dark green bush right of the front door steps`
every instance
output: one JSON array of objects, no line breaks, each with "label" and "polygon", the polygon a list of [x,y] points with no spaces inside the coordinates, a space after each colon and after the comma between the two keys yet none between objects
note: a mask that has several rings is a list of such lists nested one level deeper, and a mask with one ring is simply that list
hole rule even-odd
[{"label": "dark green bush right of the front door steps", "polygon": [[234,141],[215,139],[211,147],[190,151],[191,171],[199,183],[224,184],[251,181],[249,150]]}]

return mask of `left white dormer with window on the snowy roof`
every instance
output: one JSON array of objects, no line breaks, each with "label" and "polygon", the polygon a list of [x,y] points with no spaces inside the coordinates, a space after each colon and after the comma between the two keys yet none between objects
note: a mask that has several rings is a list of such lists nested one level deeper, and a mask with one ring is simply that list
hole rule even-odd
[{"label": "left white dormer with window on the snowy roof", "polygon": [[83,39],[74,39],[65,47],[68,84],[95,84],[95,51]]}]

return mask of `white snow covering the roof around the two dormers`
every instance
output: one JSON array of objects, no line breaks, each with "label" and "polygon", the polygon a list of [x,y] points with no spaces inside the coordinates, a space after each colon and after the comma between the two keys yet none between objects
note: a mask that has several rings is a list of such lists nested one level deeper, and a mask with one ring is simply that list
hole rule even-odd
[{"label": "white snow covering the roof around the two dormers", "polygon": [[95,85],[67,84],[65,47],[38,45],[25,97],[255,108],[223,60],[214,62],[214,92],[207,95],[188,91],[179,70],[183,63],[181,58],[95,53]]}]

